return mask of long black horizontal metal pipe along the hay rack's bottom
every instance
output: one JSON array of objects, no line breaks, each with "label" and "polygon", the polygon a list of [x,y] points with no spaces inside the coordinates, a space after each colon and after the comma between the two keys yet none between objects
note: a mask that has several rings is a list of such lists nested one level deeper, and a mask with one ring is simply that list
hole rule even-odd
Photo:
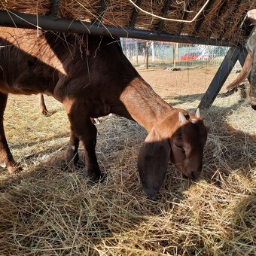
[{"label": "long black horizontal metal pipe along the hay rack's bottom", "polygon": [[231,46],[230,41],[213,38],[197,38],[187,35],[171,35],[157,33],[142,29],[130,29],[117,26],[99,26],[97,24],[81,22],[78,20],[53,19],[49,16],[36,16],[35,14],[21,14],[18,12],[0,11],[0,26],[18,27],[23,29],[42,29],[58,32],[85,33],[91,35],[105,35],[121,38],[140,38],[155,41],[170,41],[184,44],[207,44]]}]

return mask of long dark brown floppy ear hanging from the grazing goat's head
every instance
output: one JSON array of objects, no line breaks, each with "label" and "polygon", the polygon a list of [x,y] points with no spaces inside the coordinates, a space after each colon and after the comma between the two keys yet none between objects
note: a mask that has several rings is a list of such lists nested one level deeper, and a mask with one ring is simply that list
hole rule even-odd
[{"label": "long dark brown floppy ear hanging from the grazing goat's head", "polygon": [[163,184],[171,148],[153,129],[139,150],[138,169],[145,194],[154,198]]}]

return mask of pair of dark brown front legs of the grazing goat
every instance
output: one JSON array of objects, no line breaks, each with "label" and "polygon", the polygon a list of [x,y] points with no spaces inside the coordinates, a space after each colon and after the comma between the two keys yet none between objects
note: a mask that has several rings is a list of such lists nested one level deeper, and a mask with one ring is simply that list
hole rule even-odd
[{"label": "pair of dark brown front legs of the grazing goat", "polygon": [[71,102],[64,102],[64,107],[66,108],[71,124],[71,138],[66,154],[67,160],[69,161],[70,157],[76,156],[78,153],[78,143],[81,141],[84,146],[88,177],[92,180],[98,180],[101,177],[101,172],[95,152],[96,126],[91,122],[83,104],[78,102],[73,102],[72,104]]}]

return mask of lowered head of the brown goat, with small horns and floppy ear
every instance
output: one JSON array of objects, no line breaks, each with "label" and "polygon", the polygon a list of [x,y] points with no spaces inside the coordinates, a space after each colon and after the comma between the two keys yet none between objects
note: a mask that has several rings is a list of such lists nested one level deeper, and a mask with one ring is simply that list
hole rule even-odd
[{"label": "lowered head of the brown goat, with small horns and floppy ear", "polygon": [[139,151],[138,169],[148,197],[160,190],[169,160],[187,178],[197,178],[202,170],[207,131],[200,117],[174,109],[148,134]]}]

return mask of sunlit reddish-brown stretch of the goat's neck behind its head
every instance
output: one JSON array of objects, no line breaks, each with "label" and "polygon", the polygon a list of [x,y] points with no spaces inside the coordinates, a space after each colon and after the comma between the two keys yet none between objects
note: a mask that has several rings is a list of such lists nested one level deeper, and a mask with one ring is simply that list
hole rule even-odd
[{"label": "sunlit reddish-brown stretch of the goat's neck behind its head", "polygon": [[130,116],[148,133],[172,109],[142,78],[131,81],[123,90],[120,100]]}]

